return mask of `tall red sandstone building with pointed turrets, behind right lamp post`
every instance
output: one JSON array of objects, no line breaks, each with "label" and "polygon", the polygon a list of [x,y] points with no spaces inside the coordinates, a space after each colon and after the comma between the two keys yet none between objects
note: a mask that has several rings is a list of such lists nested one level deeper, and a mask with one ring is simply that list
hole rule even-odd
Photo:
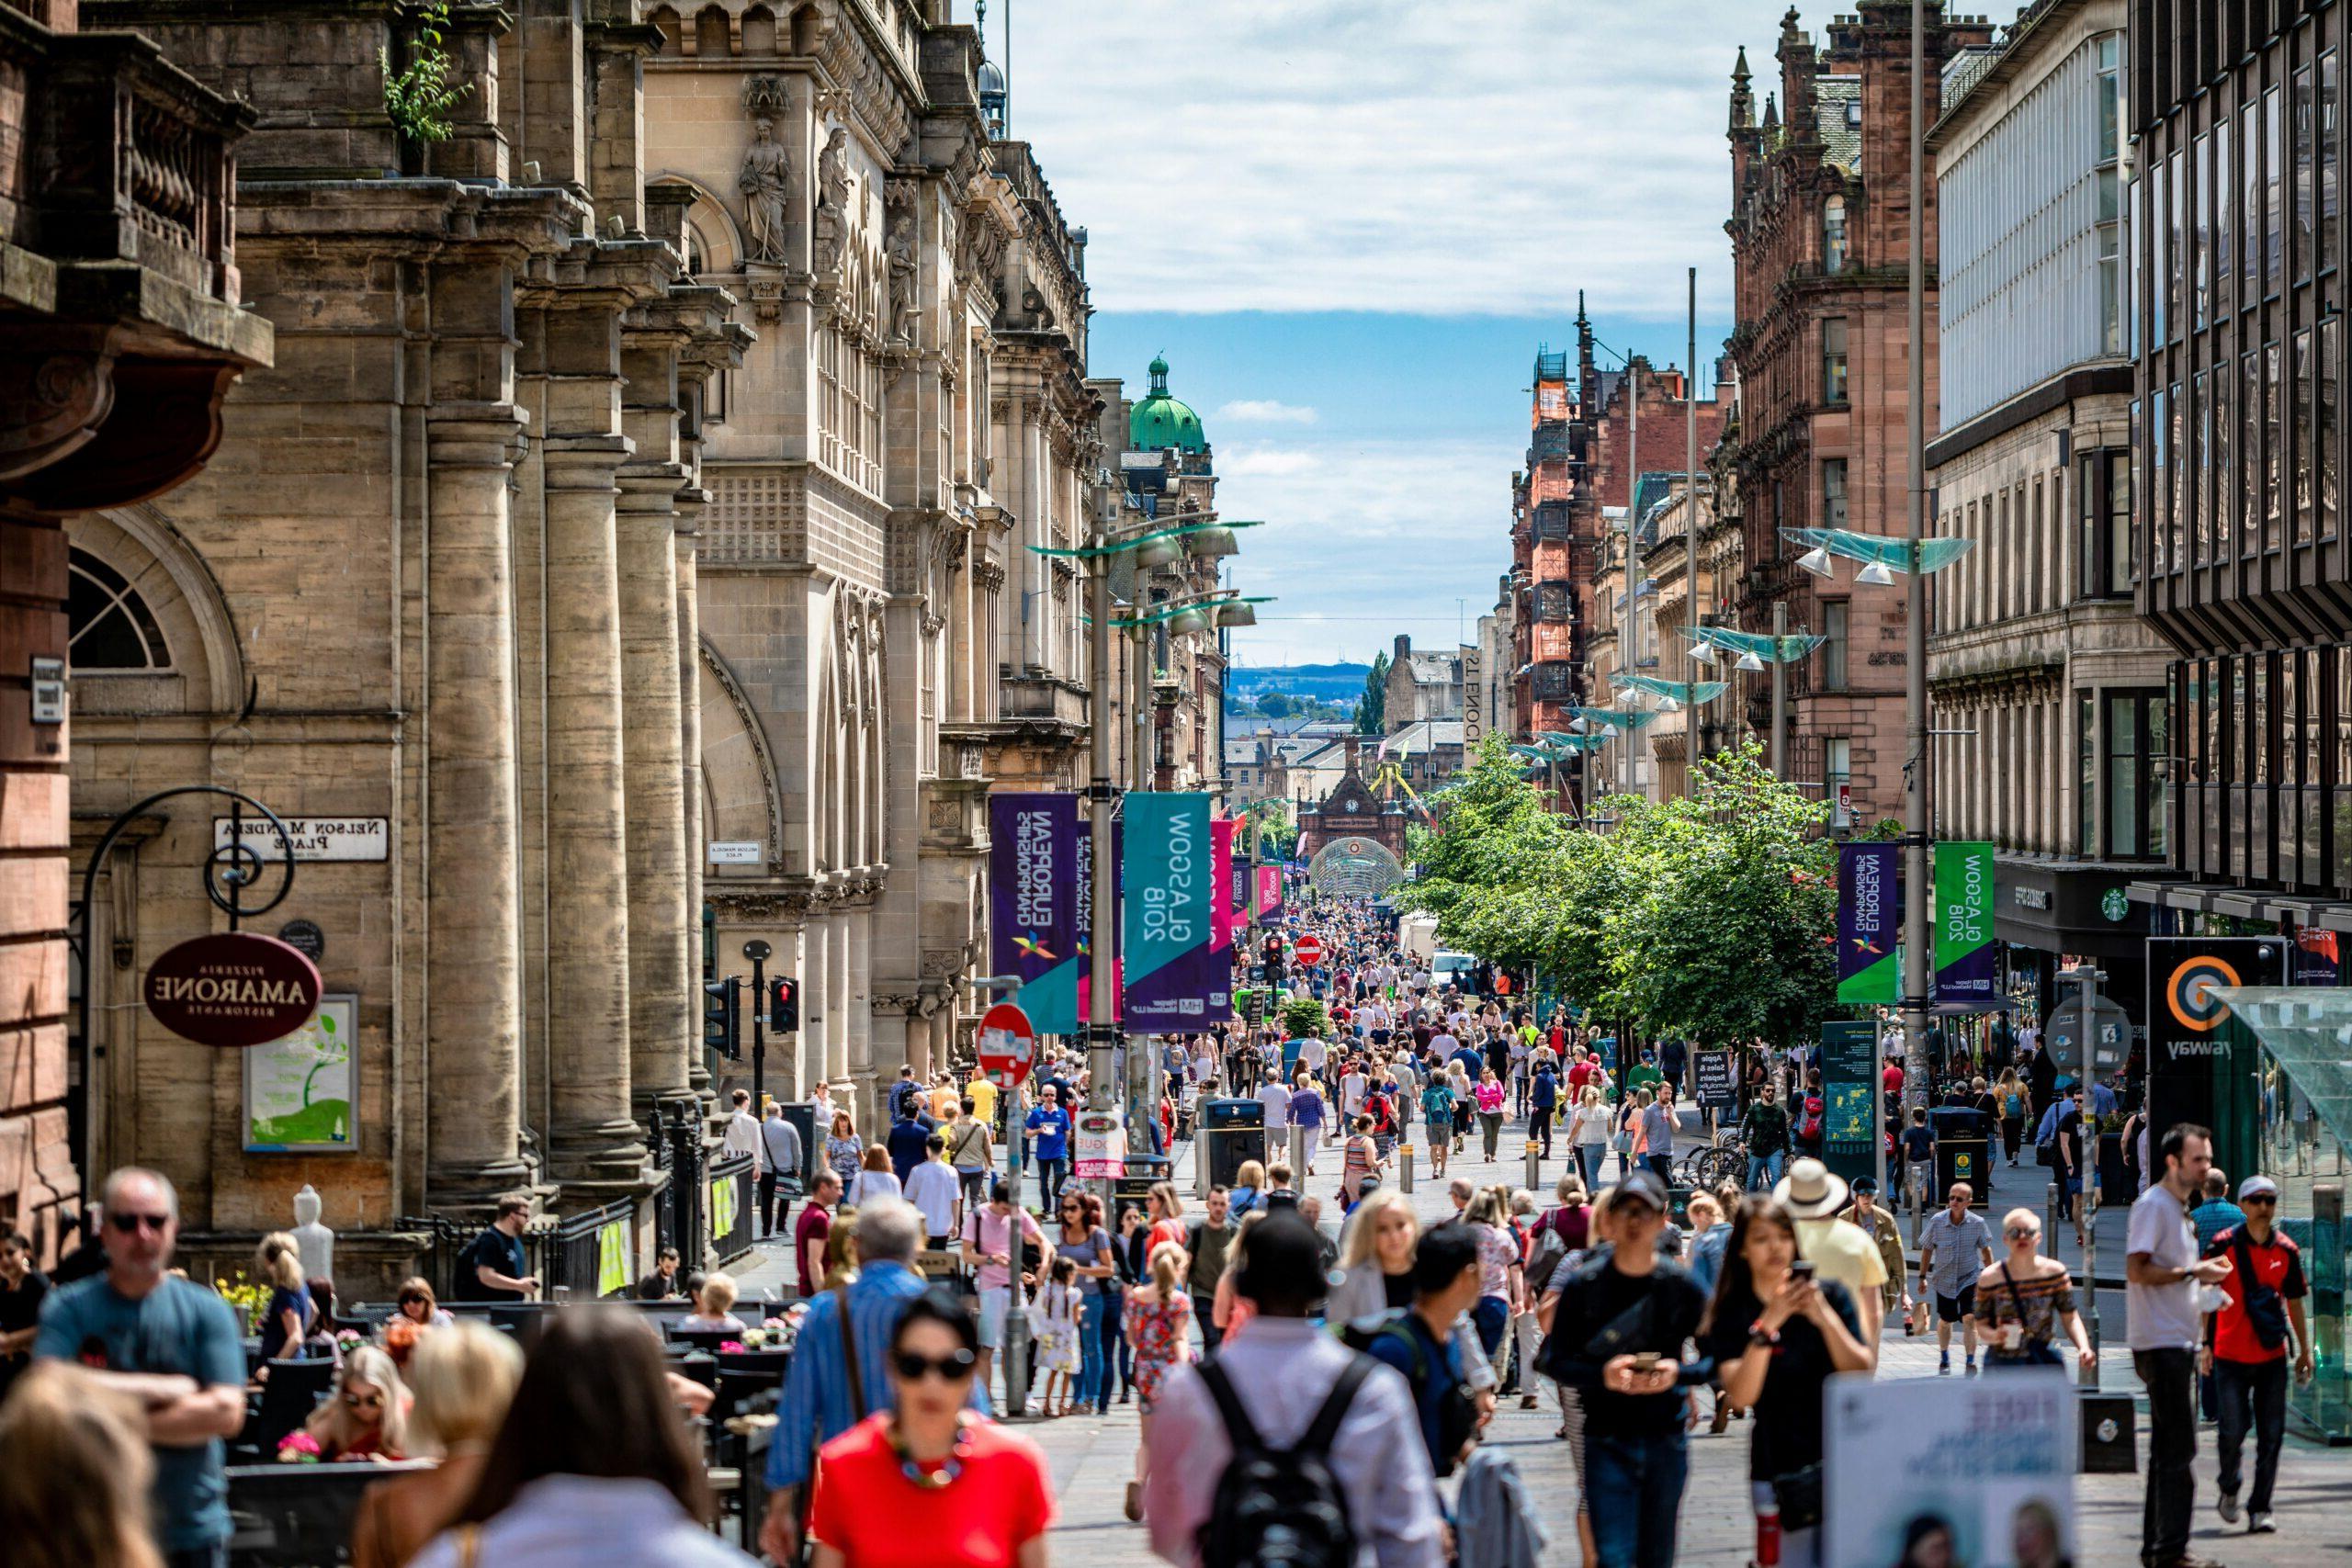
[{"label": "tall red sandstone building with pointed turrets, behind right lamp post", "polygon": [[[1926,118],[1943,63],[1983,47],[1976,16],[1926,9]],[[1910,5],[1863,0],[1828,47],[1780,21],[1780,87],[1757,122],[1740,52],[1731,73],[1731,233],[1740,409],[1726,437],[1745,574],[1738,623],[1830,642],[1790,668],[1788,776],[1853,785],[1865,818],[1903,811],[1903,588],[1856,588],[1797,569],[1783,529],[1905,527],[1905,289],[1910,277]],[[1936,169],[1926,167],[1926,435],[1936,435]],[[1759,682],[1748,724],[1769,731]]]}]

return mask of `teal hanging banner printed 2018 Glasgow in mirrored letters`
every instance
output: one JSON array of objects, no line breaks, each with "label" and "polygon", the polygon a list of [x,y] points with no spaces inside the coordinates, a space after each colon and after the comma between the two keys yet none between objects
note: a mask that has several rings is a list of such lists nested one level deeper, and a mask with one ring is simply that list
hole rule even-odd
[{"label": "teal hanging banner printed 2018 Glasgow in mirrored letters", "polygon": [[1127,797],[1120,952],[1131,1034],[1183,1034],[1232,1016],[1232,964],[1214,945],[1214,856],[1207,795]]}]

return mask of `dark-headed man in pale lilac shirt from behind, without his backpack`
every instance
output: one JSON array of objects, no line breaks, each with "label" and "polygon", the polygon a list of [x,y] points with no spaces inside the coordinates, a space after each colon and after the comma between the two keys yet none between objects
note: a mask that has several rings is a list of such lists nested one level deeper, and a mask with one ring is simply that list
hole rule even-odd
[{"label": "dark-headed man in pale lilac shirt from behind, without his backpack", "polygon": [[[1294,1446],[1350,1366],[1362,1385],[1331,1439],[1331,1479],[1348,1500],[1357,1568],[1442,1568],[1444,1535],[1437,1483],[1423,1443],[1397,1441],[1421,1425],[1404,1378],[1341,1345],[1308,1321],[1324,1284],[1315,1232],[1296,1213],[1268,1213],[1249,1227],[1235,1295],[1256,1314],[1225,1340],[1214,1366],[1232,1401],[1268,1448]],[[1143,1516],[1152,1552],[1190,1568],[1200,1561],[1200,1526],[1216,1502],[1232,1436],[1197,1361],[1178,1361],[1160,1385],[1150,1422]]]}]

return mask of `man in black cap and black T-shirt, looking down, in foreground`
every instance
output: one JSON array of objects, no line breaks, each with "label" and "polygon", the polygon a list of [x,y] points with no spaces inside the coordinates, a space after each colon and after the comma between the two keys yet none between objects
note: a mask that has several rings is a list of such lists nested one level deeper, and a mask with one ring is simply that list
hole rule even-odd
[{"label": "man in black cap and black T-shirt, looking down, in foreground", "polygon": [[1585,1495],[1606,1502],[1590,1509],[1595,1561],[1665,1568],[1691,1467],[1682,1392],[1715,1375],[1712,1356],[1682,1359],[1708,1295],[1658,1258],[1665,1185],[1651,1171],[1616,1185],[1606,1222],[1611,1246],[1562,1284],[1543,1371],[1583,1406]]}]

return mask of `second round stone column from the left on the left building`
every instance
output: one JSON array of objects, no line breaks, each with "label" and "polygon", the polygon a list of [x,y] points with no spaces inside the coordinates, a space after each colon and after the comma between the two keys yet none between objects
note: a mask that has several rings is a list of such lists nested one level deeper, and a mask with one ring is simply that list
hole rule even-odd
[{"label": "second round stone column from the left on the left building", "polygon": [[[576,327],[593,329],[588,320]],[[557,329],[550,320],[550,336]],[[633,1185],[644,1166],[628,1098],[628,830],[614,538],[614,475],[628,454],[621,435],[557,435],[543,451],[550,1164],[564,1182],[588,1187]]]}]

